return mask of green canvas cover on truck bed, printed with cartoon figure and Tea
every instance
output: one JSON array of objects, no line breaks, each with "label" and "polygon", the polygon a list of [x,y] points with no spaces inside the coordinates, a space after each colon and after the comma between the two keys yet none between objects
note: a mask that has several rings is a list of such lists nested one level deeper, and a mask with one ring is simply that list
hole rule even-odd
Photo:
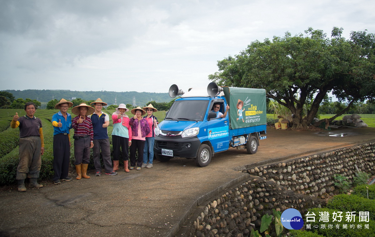
[{"label": "green canvas cover on truck bed, printed with cartoon figure and Tea", "polygon": [[229,104],[231,129],[267,123],[266,90],[239,87],[222,87]]}]

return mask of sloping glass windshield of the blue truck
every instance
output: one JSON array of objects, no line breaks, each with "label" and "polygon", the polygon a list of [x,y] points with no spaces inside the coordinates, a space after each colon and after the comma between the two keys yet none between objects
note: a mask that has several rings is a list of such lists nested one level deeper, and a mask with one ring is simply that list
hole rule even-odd
[{"label": "sloping glass windshield of the blue truck", "polygon": [[202,121],[207,105],[208,101],[175,101],[165,120]]}]

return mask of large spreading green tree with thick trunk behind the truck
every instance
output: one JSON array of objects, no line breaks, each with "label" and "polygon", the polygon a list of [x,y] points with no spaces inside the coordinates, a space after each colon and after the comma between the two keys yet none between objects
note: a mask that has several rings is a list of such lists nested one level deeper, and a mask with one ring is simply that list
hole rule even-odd
[{"label": "large spreading green tree with thick trunk behind the truck", "polygon": [[347,102],[332,121],[354,103],[375,97],[375,36],[352,31],[345,39],[342,30],[334,27],[327,37],[309,28],[305,34],[256,40],[218,61],[219,72],[209,78],[223,86],[266,89],[268,98],[291,110],[296,127],[308,126],[331,92]]}]

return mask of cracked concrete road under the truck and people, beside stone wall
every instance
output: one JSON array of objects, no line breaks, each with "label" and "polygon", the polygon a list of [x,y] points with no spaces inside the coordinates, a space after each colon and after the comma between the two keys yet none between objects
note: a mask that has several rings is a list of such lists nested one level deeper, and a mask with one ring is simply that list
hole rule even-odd
[{"label": "cracked concrete road under the truck and people, beside stone wall", "polygon": [[[0,192],[0,236],[173,236],[197,204],[240,182],[242,168],[375,140],[375,128],[267,131],[258,152],[231,148],[210,165],[193,159],[90,179]],[[75,174],[71,174],[75,177]]]}]

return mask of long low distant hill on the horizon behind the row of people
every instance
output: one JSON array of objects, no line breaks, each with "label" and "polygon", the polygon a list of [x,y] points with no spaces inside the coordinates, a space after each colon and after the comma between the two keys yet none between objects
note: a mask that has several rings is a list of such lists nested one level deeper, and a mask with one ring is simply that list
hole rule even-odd
[{"label": "long low distant hill on the horizon behind the row of people", "polygon": [[115,99],[118,104],[133,104],[133,98],[135,97],[135,103],[137,106],[145,106],[149,101],[155,102],[169,102],[172,98],[169,97],[168,93],[151,93],[151,92],[80,92],[72,90],[5,90],[10,92],[17,98],[29,98],[37,99],[40,102],[48,102],[54,99],[60,100],[61,98],[72,100],[72,98],[81,98],[83,100],[95,100],[101,98],[102,101],[113,105]]}]

